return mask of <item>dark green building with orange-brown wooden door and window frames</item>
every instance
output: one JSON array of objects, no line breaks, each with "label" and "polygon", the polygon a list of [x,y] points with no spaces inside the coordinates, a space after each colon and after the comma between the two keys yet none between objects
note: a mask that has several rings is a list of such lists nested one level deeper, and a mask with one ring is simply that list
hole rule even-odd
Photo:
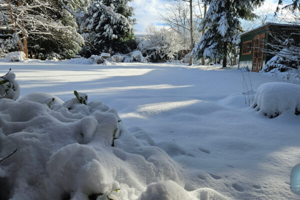
[{"label": "dark green building with orange-brown wooden door and window frames", "polygon": [[[265,63],[274,56],[274,54],[267,53],[271,50],[269,44],[276,43],[280,35],[288,35],[288,37],[296,35],[291,33],[295,30],[298,31],[299,26],[265,23],[241,33],[238,67],[248,67],[250,71],[260,71]],[[299,36],[297,35],[297,37]]]}]

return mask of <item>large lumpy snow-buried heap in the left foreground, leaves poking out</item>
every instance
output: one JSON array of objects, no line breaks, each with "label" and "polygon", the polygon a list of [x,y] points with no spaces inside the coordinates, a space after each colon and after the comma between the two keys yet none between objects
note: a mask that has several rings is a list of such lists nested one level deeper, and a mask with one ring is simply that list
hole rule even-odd
[{"label": "large lumpy snow-buried heap in the left foreground, leaves poking out", "polygon": [[66,102],[40,92],[0,100],[0,160],[17,149],[0,162],[2,197],[199,199],[145,131],[133,135],[115,109],[74,94]]}]

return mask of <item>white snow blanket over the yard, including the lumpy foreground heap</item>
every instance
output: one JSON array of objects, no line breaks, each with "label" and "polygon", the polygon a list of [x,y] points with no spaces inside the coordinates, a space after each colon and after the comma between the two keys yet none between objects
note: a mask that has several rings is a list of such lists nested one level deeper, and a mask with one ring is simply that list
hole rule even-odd
[{"label": "white snow blanket over the yard, including the lumpy foreground heap", "polygon": [[[18,149],[0,163],[12,199],[299,199],[289,178],[300,163],[300,115],[246,107],[238,70],[72,60],[0,67],[12,68],[23,96],[0,101],[0,158]],[[253,95],[277,81],[249,77]],[[261,87],[256,96],[266,100],[286,95]],[[89,103],[73,100],[68,110],[62,101],[74,89]]]}]

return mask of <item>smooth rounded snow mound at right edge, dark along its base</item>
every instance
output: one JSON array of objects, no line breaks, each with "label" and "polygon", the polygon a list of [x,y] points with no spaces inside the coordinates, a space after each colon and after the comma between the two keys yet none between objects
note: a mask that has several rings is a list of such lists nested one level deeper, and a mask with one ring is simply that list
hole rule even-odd
[{"label": "smooth rounded snow mound at right edge, dark along its base", "polygon": [[261,84],[251,105],[270,118],[282,112],[300,113],[300,86],[286,82],[267,82]]}]

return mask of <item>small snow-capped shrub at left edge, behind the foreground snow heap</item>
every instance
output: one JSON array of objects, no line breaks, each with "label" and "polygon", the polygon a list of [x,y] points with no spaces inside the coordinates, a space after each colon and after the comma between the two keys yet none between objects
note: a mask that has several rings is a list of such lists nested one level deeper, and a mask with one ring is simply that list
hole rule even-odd
[{"label": "small snow-capped shrub at left edge, behind the foreground snow heap", "polygon": [[20,87],[15,80],[15,74],[9,71],[0,76],[0,99],[10,98],[16,100],[20,95]]}]

